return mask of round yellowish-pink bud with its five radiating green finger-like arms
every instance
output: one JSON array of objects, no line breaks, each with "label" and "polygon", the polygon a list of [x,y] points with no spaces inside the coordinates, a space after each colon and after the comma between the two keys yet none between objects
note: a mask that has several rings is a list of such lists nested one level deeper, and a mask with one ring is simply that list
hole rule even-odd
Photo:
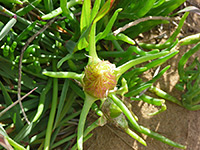
[{"label": "round yellowish-pink bud with its five radiating green finger-like arms", "polygon": [[[140,131],[140,126],[136,122],[132,113],[124,105],[124,103],[117,97],[117,83],[120,76],[134,65],[142,62],[156,59],[164,56],[169,52],[159,52],[156,54],[145,55],[126,62],[125,64],[116,67],[115,64],[110,63],[108,60],[101,60],[98,58],[95,46],[95,24],[91,28],[89,45],[88,45],[88,64],[81,74],[75,72],[43,72],[44,75],[55,78],[72,78],[80,82],[85,93],[85,101],[78,124],[77,133],[77,146],[79,150],[83,149],[83,132],[87,114],[92,104],[97,100],[106,100],[110,97],[112,101],[122,110],[122,112],[129,119],[131,124]],[[145,145],[146,143],[143,142]]]}]

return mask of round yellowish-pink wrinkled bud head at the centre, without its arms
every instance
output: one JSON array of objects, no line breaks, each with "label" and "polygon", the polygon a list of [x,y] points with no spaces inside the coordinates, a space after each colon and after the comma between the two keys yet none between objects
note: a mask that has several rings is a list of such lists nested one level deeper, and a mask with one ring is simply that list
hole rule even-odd
[{"label": "round yellowish-pink wrinkled bud head at the centre, without its arms", "polygon": [[109,91],[117,84],[115,68],[116,66],[109,61],[87,65],[83,77],[84,91],[97,98],[107,97]]}]

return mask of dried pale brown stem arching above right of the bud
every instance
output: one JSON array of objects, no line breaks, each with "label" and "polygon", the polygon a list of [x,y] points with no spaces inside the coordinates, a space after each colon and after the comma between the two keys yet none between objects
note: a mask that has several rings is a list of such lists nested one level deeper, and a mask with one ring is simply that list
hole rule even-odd
[{"label": "dried pale brown stem arching above right of the bud", "polygon": [[132,27],[132,26],[135,26],[141,22],[144,22],[144,21],[148,21],[148,20],[170,20],[169,17],[162,17],[162,16],[148,16],[148,17],[145,17],[145,18],[140,18],[138,20],[135,20],[133,22],[130,22],[128,24],[126,24],[125,26],[121,27],[121,28],[118,28],[117,30],[115,30],[113,32],[113,35],[116,36],[117,34],[119,34],[120,32],[123,32],[125,31],[126,29]]}]

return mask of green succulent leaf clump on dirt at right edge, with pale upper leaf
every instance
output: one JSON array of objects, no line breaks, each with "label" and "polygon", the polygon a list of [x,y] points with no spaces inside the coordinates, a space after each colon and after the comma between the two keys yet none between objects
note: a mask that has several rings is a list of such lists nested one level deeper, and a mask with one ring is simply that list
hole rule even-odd
[{"label": "green succulent leaf clump on dirt at right edge, with pale upper leaf", "polygon": [[[176,84],[176,88],[183,92],[181,101],[178,101],[175,97],[168,95],[164,91],[161,93],[167,94],[167,99],[177,103],[178,105],[185,107],[188,110],[199,110],[199,60],[198,57],[193,59],[191,64],[187,63],[188,59],[195,54],[199,49],[199,34],[191,35],[180,40],[179,45],[184,46],[188,44],[196,44],[193,48],[188,50],[179,60],[178,73],[179,83]],[[157,91],[154,87],[153,91]],[[159,94],[158,94],[159,95]],[[159,95],[164,98],[163,95]]]}]

